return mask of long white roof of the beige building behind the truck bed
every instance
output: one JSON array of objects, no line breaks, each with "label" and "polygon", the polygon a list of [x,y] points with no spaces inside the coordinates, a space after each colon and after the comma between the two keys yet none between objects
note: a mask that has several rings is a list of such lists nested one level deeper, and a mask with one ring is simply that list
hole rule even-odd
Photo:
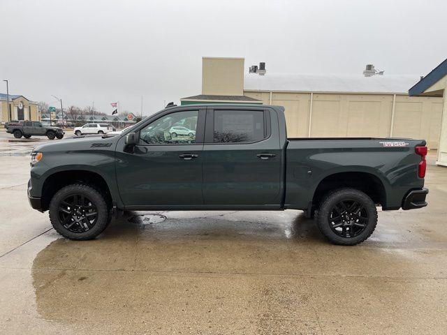
[{"label": "long white roof of the beige building behind the truck bed", "polygon": [[418,75],[300,75],[293,73],[246,73],[246,91],[295,91],[334,93],[408,94]]}]

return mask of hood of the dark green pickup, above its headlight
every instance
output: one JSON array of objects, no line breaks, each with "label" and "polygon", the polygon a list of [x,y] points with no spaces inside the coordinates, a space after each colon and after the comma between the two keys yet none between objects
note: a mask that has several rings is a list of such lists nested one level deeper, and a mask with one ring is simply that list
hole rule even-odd
[{"label": "hood of the dark green pickup, above its headlight", "polygon": [[103,138],[101,136],[73,137],[57,142],[50,142],[38,145],[33,151],[77,151],[77,150],[98,150],[101,148],[115,148],[119,136]]}]

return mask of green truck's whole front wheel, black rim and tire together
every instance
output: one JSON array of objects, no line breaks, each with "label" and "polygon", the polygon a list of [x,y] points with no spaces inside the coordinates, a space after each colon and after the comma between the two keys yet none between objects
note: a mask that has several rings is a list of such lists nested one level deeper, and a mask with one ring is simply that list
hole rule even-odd
[{"label": "green truck's whole front wheel, black rim and tire together", "polygon": [[110,218],[103,195],[85,184],[61,188],[50,202],[50,221],[67,239],[94,239],[105,230]]}]

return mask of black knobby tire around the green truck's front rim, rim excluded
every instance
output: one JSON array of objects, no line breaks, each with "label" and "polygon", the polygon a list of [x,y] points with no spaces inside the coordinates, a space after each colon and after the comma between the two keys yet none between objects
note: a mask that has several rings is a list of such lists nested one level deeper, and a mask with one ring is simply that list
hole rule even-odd
[{"label": "black knobby tire around the green truck's front rim, rim excluded", "polygon": [[[64,225],[59,221],[59,204],[71,194],[82,194],[91,200],[96,206],[96,210],[98,212],[98,217],[96,219],[95,225],[87,232],[71,232],[66,229]],[[105,201],[104,196],[95,188],[85,185],[85,184],[72,184],[61,188],[57,193],[53,196],[50,202],[50,222],[53,225],[54,230],[59,232],[63,237],[67,239],[73,240],[87,240],[94,239],[97,237],[105,228],[107,228],[108,224],[112,219],[112,211],[110,210],[110,206],[108,206]]]}]

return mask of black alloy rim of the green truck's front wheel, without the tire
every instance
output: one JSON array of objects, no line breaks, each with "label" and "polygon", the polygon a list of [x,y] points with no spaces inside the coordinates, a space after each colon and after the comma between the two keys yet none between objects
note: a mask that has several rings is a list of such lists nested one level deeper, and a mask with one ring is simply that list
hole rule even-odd
[{"label": "black alloy rim of the green truck's front wheel, without the tire", "polygon": [[73,194],[59,204],[58,218],[70,232],[87,232],[96,225],[98,209],[85,195]]}]

